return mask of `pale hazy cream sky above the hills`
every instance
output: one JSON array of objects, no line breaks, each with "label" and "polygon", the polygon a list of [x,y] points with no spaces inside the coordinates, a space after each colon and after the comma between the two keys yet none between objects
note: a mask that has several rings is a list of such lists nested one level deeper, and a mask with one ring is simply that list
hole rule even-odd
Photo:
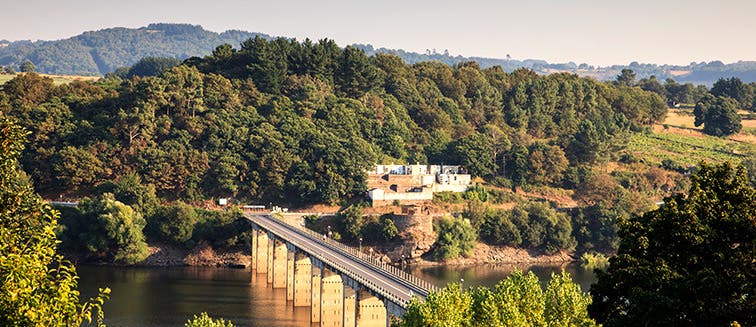
[{"label": "pale hazy cream sky above the hills", "polygon": [[0,13],[8,40],[171,22],[593,65],[756,60],[756,0],[0,0]]}]

